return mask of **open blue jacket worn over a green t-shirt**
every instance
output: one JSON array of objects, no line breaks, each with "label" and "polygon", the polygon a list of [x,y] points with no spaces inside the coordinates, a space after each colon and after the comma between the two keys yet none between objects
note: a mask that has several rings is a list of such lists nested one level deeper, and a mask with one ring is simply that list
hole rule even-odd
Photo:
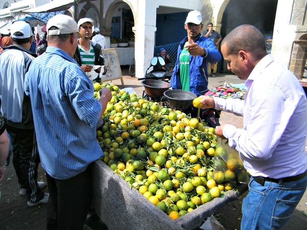
[{"label": "open blue jacket worn over a green t-shirt", "polygon": [[[170,79],[172,89],[182,89],[179,71],[179,55],[184,49],[184,44],[187,40],[187,37],[183,39],[178,47],[176,65],[174,66],[172,77]],[[221,54],[218,52],[211,39],[204,37],[201,34],[195,38],[194,42],[198,43],[200,47],[203,47],[206,52],[204,57],[198,55],[193,58],[193,56],[190,55],[190,91],[197,96],[200,96],[208,91],[208,62],[215,63],[219,61],[221,59]]]}]

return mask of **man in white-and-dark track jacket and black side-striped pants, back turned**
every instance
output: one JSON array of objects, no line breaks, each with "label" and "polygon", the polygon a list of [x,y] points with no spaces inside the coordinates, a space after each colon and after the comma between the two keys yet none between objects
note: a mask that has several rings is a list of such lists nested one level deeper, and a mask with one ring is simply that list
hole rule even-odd
[{"label": "man in white-and-dark track jacket and black side-striped pants, back turned", "polygon": [[33,40],[30,24],[14,21],[10,28],[13,45],[0,55],[1,112],[11,136],[13,165],[20,185],[19,195],[32,207],[47,203],[49,193],[41,191],[45,182],[37,182],[39,155],[30,98],[24,93],[25,75],[36,54],[29,49]]}]

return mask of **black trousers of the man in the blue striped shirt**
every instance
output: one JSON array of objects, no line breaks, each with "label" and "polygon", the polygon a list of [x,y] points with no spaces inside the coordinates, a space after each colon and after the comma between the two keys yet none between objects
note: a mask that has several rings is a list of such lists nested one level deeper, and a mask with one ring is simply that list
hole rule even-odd
[{"label": "black trousers of the man in the blue striped shirt", "polygon": [[[47,229],[83,229],[92,199],[92,174],[89,167],[65,180],[47,174],[49,202]],[[53,187],[53,188],[51,188]]]}]

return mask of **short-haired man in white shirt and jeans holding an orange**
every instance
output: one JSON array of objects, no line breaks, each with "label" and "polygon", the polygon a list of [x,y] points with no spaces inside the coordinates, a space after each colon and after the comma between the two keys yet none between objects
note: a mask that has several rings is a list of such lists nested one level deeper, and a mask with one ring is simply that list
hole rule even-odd
[{"label": "short-haired man in white shirt and jeans holding an orange", "polygon": [[242,129],[230,124],[215,129],[251,174],[241,229],[282,229],[307,185],[306,95],[294,74],[267,54],[266,40],[254,26],[231,31],[221,51],[228,70],[246,80],[245,99],[202,96],[201,102],[203,109],[244,116]]}]

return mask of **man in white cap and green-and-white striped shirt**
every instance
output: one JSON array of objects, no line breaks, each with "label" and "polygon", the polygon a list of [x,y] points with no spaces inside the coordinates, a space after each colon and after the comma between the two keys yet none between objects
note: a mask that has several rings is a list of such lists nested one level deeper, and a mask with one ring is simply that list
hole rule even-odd
[{"label": "man in white cap and green-and-white striped shirt", "polygon": [[[94,26],[94,21],[91,18],[81,18],[77,25],[83,38],[78,39],[78,47],[74,58],[85,73],[90,73],[94,65],[104,66],[104,59],[100,55],[101,45],[91,41]],[[101,71],[105,74],[106,67],[104,66],[104,70],[101,70],[101,67],[95,70],[97,75],[91,76],[93,82],[100,82],[99,73]]]}]

